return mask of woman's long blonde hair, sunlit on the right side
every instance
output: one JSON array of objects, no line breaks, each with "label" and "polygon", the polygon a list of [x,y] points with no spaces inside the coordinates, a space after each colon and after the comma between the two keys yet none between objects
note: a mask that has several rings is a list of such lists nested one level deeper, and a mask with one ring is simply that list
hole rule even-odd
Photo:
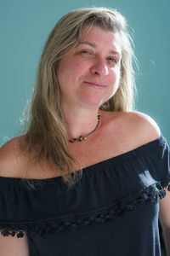
[{"label": "woman's long blonde hair, sunlit on the right side", "polygon": [[117,31],[122,40],[121,79],[116,94],[100,109],[130,111],[133,109],[133,48],[127,32],[126,20],[116,10],[106,8],[76,9],[63,16],[48,36],[42,51],[35,90],[25,120],[24,144],[20,148],[31,153],[31,163],[42,154],[53,163],[64,183],[73,186],[82,177],[82,168],[71,172],[78,164],[68,152],[65,119],[60,107],[60,90],[56,67],[63,55],[78,44],[83,26],[99,26]]}]

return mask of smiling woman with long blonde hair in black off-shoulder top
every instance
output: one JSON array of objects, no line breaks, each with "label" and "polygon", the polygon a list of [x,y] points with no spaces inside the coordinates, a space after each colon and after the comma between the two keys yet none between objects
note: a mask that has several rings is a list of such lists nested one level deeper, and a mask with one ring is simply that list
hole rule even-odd
[{"label": "smiling woman with long blonde hair in black off-shoulder top", "polygon": [[112,9],[74,10],[50,33],[29,123],[0,152],[2,256],[158,256],[159,206],[170,253],[169,149],[133,111],[132,60]]}]

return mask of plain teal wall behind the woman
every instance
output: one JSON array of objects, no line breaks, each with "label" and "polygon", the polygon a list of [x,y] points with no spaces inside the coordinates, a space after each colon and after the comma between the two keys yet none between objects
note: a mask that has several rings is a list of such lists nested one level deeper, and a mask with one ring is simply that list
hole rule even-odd
[{"label": "plain teal wall behind the woman", "polygon": [[137,110],[156,120],[170,143],[170,1],[0,0],[0,145],[20,131],[20,116],[37,73],[48,33],[71,9],[105,6],[127,18],[133,32]]}]

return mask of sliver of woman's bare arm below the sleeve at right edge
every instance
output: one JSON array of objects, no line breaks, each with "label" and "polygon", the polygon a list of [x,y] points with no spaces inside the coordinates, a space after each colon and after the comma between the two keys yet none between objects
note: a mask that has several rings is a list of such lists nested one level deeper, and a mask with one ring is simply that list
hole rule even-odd
[{"label": "sliver of woman's bare arm below the sleeve at right edge", "polygon": [[160,212],[159,218],[165,238],[167,256],[170,256],[170,191],[167,191],[167,195],[160,199]]}]

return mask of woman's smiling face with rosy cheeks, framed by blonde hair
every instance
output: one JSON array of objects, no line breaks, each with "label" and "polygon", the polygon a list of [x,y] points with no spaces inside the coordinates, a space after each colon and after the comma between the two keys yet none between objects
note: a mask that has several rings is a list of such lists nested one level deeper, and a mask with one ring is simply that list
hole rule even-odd
[{"label": "woman's smiling face with rosy cheeks, framed by blonde hair", "polygon": [[[118,32],[93,26],[57,67],[61,106],[99,108],[116,93],[120,80],[121,39]],[[85,36],[84,36],[85,35]]]}]

